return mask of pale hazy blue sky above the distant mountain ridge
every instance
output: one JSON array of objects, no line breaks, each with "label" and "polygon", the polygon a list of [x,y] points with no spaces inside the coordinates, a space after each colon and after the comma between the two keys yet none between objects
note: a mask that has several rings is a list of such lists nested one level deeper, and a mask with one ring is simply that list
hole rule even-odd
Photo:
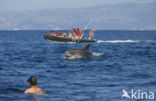
[{"label": "pale hazy blue sky above the distant mountain ridge", "polygon": [[0,0],[0,12],[58,8],[82,8],[102,4],[150,3],[156,0]]}]

